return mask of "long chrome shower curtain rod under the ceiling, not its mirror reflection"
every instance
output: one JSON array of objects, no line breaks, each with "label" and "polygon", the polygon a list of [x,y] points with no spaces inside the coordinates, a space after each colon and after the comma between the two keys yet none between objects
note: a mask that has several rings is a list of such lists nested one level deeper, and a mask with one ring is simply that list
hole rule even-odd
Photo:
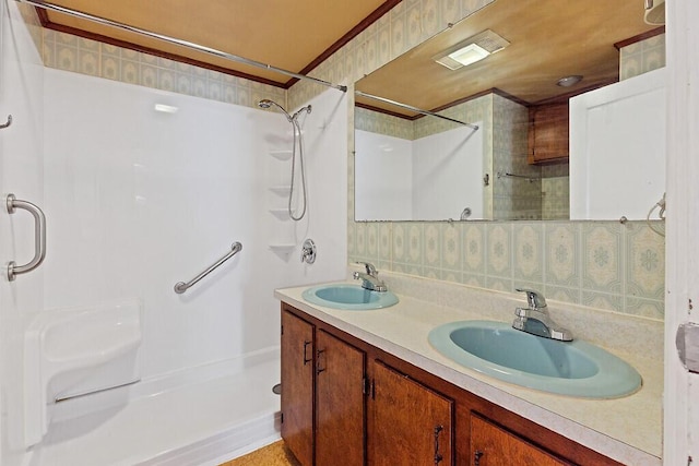
[{"label": "long chrome shower curtain rod under the ceiling, not its mirror reflection", "polygon": [[321,85],[327,86],[327,87],[332,87],[332,88],[335,88],[337,91],[347,92],[347,86],[344,86],[344,85],[341,85],[341,84],[333,84],[333,83],[328,82],[328,81],[319,80],[318,77],[311,77],[311,76],[307,76],[305,74],[294,73],[293,71],[284,70],[282,68],[272,67],[271,64],[266,64],[266,63],[262,63],[262,62],[259,62],[259,61],[250,60],[248,58],[240,57],[240,56],[233,55],[233,53],[228,53],[228,52],[225,52],[225,51],[222,51],[222,50],[217,50],[215,48],[211,48],[211,47],[202,46],[202,45],[199,45],[199,44],[190,43],[188,40],[182,40],[182,39],[178,39],[178,38],[175,38],[175,37],[166,36],[164,34],[154,33],[152,31],[142,29],[140,27],[130,26],[130,25],[125,24],[125,23],[119,23],[117,21],[108,20],[106,17],[96,16],[96,15],[88,14],[88,13],[84,13],[84,12],[78,11],[78,10],[72,10],[72,9],[69,9],[69,8],[66,8],[66,7],[60,7],[60,5],[50,3],[50,2],[46,2],[46,1],[42,1],[42,0],[15,0],[15,1],[17,1],[20,3],[26,3],[26,4],[29,4],[32,7],[40,8],[40,9],[44,9],[44,10],[49,10],[49,11],[55,11],[57,13],[68,14],[68,15],[74,16],[74,17],[79,17],[81,20],[86,20],[86,21],[91,21],[93,23],[103,24],[105,26],[110,26],[110,27],[116,27],[118,29],[128,31],[130,33],[135,33],[135,34],[139,34],[141,36],[145,36],[145,37],[163,40],[163,41],[166,41],[166,43],[169,43],[169,44],[175,44],[177,46],[186,47],[186,48],[189,48],[189,49],[192,49],[192,50],[196,50],[196,51],[200,51],[200,52],[203,52],[203,53],[206,53],[206,55],[211,55],[213,57],[223,58],[225,60],[235,61],[235,62],[238,62],[238,63],[249,64],[251,67],[261,68],[263,70],[274,71],[276,73],[284,74],[286,76],[296,77],[297,80],[311,81],[311,82],[315,82],[317,84],[321,84]]}]

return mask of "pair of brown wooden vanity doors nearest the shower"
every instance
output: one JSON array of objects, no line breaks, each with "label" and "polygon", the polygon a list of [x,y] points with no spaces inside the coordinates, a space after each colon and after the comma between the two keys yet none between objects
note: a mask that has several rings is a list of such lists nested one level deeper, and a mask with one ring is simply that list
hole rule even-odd
[{"label": "pair of brown wooden vanity doors nearest the shower", "polygon": [[282,438],[304,466],[365,464],[364,351],[282,304]]}]

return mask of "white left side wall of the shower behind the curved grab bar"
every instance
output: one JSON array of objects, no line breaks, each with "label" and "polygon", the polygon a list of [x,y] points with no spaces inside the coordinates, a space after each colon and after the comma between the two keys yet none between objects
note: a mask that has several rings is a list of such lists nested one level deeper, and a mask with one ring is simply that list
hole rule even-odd
[{"label": "white left side wall of the shower behind the curved grab bar", "polygon": [[[42,267],[5,276],[5,264],[24,265],[34,256],[34,217],[10,215],[5,198],[43,205],[43,64],[14,1],[0,2],[0,464],[12,466],[23,443],[23,339],[26,321],[43,308]],[[50,225],[50,216],[48,225]]]}]

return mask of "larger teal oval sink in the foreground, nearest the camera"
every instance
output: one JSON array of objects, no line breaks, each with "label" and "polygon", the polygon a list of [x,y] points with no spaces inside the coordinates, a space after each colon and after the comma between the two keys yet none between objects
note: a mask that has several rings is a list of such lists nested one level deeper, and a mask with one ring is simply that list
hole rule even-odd
[{"label": "larger teal oval sink in the foreground, nearest the camera", "polygon": [[641,386],[636,369],[597,346],[543,338],[502,322],[451,322],[434,328],[428,338],[461,366],[543,392],[616,398]]}]

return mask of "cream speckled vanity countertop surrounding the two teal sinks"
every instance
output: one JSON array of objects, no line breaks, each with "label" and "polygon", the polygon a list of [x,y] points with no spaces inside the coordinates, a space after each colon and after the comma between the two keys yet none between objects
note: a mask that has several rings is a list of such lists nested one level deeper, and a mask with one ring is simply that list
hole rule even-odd
[{"label": "cream speckled vanity countertop surrounding the two teal sinks", "polygon": [[[518,296],[511,294],[452,287],[437,280],[407,284],[407,278],[398,275],[394,280],[388,275],[384,278],[400,302],[379,310],[344,311],[311,304],[301,297],[308,286],[279,289],[274,296],[613,459],[635,466],[662,464],[662,322],[549,301],[554,320],[571,328],[576,337],[616,354],[643,379],[641,390],[623,398],[554,395],[501,382],[460,366],[439,354],[427,340],[430,330],[448,322],[472,319],[507,322],[514,307],[524,303],[523,299],[518,300]],[[392,288],[392,283],[398,286]],[[616,344],[601,342],[605,334],[614,336]]]}]

